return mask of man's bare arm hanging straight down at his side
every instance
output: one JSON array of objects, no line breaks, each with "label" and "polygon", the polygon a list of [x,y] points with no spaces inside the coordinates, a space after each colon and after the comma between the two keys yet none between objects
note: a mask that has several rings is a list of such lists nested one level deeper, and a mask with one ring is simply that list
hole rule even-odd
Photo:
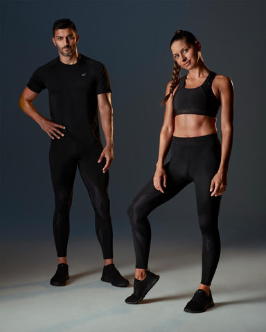
[{"label": "man's bare arm hanging straight down at his side", "polygon": [[106,159],[105,167],[103,167],[103,173],[105,173],[114,160],[113,107],[111,102],[111,93],[100,93],[100,95],[97,95],[97,98],[100,113],[100,123],[102,124],[106,142],[106,146],[103,149],[103,152],[100,154],[98,163],[100,163],[103,158]]}]

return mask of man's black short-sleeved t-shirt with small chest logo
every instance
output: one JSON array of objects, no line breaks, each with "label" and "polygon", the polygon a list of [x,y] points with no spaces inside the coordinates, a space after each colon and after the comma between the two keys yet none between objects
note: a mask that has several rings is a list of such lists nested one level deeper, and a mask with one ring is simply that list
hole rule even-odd
[{"label": "man's black short-sleeved t-shirt with small chest logo", "polygon": [[66,136],[100,144],[97,95],[111,92],[103,64],[80,55],[76,64],[69,65],[57,57],[37,68],[27,86],[35,93],[48,89],[51,119],[66,127]]}]

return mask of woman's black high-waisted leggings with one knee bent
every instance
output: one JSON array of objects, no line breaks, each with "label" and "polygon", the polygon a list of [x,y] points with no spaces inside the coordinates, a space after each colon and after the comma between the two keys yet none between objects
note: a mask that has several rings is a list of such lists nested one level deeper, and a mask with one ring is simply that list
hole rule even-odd
[{"label": "woman's black high-waisted leggings with one knee bent", "polygon": [[210,186],[213,176],[218,172],[220,158],[221,145],[216,133],[193,138],[172,138],[171,160],[164,166],[167,174],[164,194],[155,189],[150,179],[128,208],[136,268],[148,268],[150,212],[172,199],[188,183],[194,182],[203,241],[201,283],[211,285],[220,258],[218,214],[221,196],[211,196]]}]

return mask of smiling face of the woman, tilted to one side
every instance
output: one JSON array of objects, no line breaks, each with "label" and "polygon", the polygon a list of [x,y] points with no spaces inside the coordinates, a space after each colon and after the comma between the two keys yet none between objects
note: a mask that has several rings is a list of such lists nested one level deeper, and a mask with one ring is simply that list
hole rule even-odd
[{"label": "smiling face of the woman, tilted to one side", "polygon": [[191,68],[197,66],[200,57],[200,48],[199,42],[192,45],[188,44],[186,39],[180,39],[172,43],[172,56],[181,68],[189,71]]}]

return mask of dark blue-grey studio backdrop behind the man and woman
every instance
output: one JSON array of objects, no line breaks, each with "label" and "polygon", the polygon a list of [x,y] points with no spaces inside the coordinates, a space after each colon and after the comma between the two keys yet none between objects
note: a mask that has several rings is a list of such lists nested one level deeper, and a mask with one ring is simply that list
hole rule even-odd
[{"label": "dark blue-grey studio backdrop behind the man and woman", "polygon": [[[213,71],[233,80],[236,116],[222,241],[260,245],[265,237],[265,2],[260,1],[2,1],[1,234],[4,241],[51,239],[53,192],[49,138],[18,107],[35,68],[57,56],[55,19],[73,19],[80,53],[109,71],[115,160],[109,196],[114,238],[130,238],[127,205],[152,176],[163,121],[160,102],[172,74],[169,42],[190,30]],[[35,106],[48,113],[48,94]],[[218,125],[220,120],[218,120]],[[193,184],[150,215],[154,237],[200,241]],[[71,237],[95,237],[94,212],[76,177]]]}]

